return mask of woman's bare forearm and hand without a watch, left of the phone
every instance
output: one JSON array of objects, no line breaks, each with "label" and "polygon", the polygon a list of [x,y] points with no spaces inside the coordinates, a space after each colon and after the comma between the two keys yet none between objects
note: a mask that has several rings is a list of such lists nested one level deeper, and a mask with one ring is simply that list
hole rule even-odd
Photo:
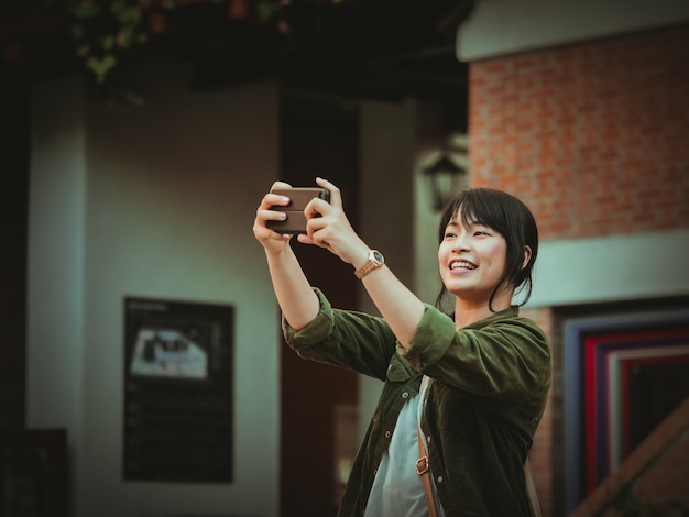
[{"label": "woman's bare forearm and hand without a watch, left of the phone", "polygon": [[[276,182],[273,188],[288,186]],[[288,199],[284,196],[266,194],[256,209],[253,234],[265,251],[277,304],[289,326],[298,330],[306,327],[318,315],[319,304],[302,265],[289,246],[289,235],[281,235],[266,226],[267,221],[284,219],[284,212],[270,210],[270,207],[287,204]]]}]

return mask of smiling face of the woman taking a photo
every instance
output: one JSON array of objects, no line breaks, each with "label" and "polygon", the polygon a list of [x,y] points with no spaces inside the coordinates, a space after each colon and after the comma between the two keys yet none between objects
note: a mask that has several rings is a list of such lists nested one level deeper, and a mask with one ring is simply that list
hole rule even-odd
[{"label": "smiling face of the woman taking a photo", "polygon": [[507,242],[484,224],[464,228],[456,213],[438,248],[440,277],[448,292],[477,304],[488,301],[506,265]]}]

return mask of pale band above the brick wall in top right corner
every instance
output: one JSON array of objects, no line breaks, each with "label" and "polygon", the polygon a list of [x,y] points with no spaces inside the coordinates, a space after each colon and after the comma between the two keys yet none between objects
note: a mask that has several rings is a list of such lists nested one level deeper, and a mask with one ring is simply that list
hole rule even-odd
[{"label": "pale band above the brick wall in top right corner", "polygon": [[687,22],[687,0],[479,0],[457,55],[471,62]]}]

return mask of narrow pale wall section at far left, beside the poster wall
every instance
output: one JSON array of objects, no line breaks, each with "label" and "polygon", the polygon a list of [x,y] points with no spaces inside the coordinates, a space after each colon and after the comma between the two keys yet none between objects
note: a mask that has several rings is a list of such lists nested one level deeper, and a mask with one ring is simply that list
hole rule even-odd
[{"label": "narrow pale wall section at far left, beside the poster wall", "polygon": [[[80,81],[39,87],[31,156],[26,424],[81,437],[86,135]],[[58,99],[56,102],[55,100]]]}]

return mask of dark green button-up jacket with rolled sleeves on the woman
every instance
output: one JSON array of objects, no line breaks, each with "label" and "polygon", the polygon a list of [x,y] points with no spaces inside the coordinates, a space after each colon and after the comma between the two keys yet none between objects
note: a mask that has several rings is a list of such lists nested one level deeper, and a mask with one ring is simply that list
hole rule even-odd
[{"label": "dark green button-up jacket with rolled sleeves on the woman", "polygon": [[332,309],[316,293],[320,312],[305,329],[283,321],[288,345],[300,358],[385,383],[339,515],[363,515],[397,415],[426,374],[433,382],[422,428],[447,515],[528,516],[523,464],[551,380],[550,349],[536,323],[511,307],[456,330],[451,318],[426,305],[405,351],[382,318]]}]

